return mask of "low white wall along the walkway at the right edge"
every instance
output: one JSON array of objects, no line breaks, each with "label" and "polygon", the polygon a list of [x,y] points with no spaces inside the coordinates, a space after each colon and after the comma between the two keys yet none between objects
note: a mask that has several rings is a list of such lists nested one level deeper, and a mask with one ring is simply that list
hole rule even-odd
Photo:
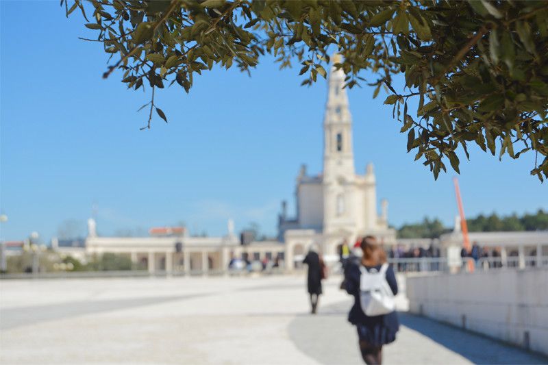
[{"label": "low white wall along the walkway at the right edge", "polygon": [[407,295],[410,312],[548,355],[548,268],[408,277]]}]

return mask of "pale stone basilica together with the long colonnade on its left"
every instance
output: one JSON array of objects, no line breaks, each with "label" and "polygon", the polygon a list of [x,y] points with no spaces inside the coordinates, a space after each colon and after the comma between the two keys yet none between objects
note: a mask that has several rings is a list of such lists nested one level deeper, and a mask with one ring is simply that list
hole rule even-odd
[{"label": "pale stone basilica together with the long colonnade on its left", "polygon": [[277,257],[284,268],[292,270],[311,244],[320,247],[327,262],[336,262],[337,247],[343,240],[353,243],[368,234],[384,244],[394,244],[395,230],[388,228],[386,201],[382,202],[382,214],[377,214],[373,165],[367,166],[365,175],[354,171],[352,122],[344,79],[343,71],[332,67],[323,122],[323,174],[310,176],[305,167],[301,168],[297,177],[297,216],[288,218],[286,203],[282,204],[278,240],[242,244],[232,223],[221,237],[190,237],[184,227],[152,228],[149,237],[107,237],[97,235],[95,220],[90,219],[83,246],[62,247],[62,242],[55,246],[82,258],[125,254],[150,272],[180,271],[190,275],[225,272],[231,257],[244,255],[251,260],[273,261]]}]

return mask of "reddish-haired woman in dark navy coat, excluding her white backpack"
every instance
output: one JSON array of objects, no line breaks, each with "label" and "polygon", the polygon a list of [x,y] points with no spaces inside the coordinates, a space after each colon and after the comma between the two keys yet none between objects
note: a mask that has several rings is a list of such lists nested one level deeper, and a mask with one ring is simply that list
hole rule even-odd
[{"label": "reddish-haired woman in dark navy coat, excluding her white backpack", "polygon": [[[360,266],[367,271],[381,269],[386,262],[386,253],[377,244],[375,237],[366,236],[362,240],[363,255],[360,262],[351,262],[345,270],[346,290],[354,297],[354,305],[348,314],[350,323],[356,326],[360,343],[360,352],[366,364],[382,363],[382,346],[396,340],[399,322],[396,312],[381,316],[366,316],[360,305]],[[386,270],[386,281],[393,294],[397,294],[398,286],[394,270],[391,266]]]}]

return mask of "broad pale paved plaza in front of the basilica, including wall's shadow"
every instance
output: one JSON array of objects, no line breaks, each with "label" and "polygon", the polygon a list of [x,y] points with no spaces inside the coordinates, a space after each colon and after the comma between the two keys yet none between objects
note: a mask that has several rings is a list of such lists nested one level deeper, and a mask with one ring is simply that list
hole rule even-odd
[{"label": "broad pale paved plaza in front of the basilica, including wall's shadow", "polygon": [[[308,313],[303,275],[0,281],[1,364],[362,364],[340,277]],[[386,364],[542,364],[401,314]]]}]

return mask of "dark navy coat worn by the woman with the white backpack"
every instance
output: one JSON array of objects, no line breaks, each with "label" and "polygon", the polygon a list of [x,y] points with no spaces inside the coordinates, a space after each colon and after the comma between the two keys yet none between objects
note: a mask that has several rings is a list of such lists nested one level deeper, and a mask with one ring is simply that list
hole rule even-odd
[{"label": "dark navy coat worn by the woman with the white backpack", "polygon": [[[396,332],[399,330],[399,321],[396,312],[384,314],[382,316],[366,316],[360,305],[360,264],[356,261],[351,262],[345,270],[345,289],[354,297],[354,305],[348,314],[348,320],[358,327],[360,339],[366,340],[373,345],[382,345],[393,342],[396,339]],[[371,268],[380,270],[381,265],[364,266],[368,271]],[[398,284],[392,266],[386,270],[386,281],[394,294],[398,292]]]}]

